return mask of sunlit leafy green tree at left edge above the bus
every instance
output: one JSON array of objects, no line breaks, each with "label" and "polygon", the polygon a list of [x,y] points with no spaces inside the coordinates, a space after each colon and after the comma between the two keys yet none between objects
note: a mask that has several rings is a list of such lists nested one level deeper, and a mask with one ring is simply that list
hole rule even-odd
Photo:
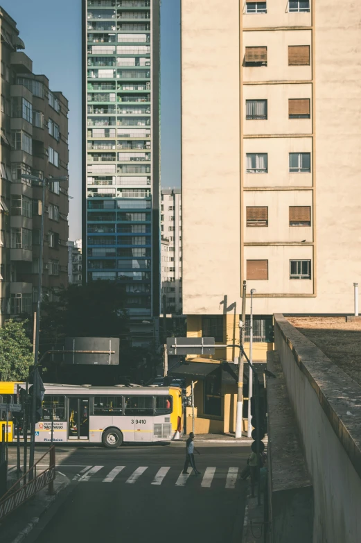
[{"label": "sunlit leafy green tree at left edge above the bus", "polygon": [[26,336],[27,320],[6,320],[0,328],[1,381],[24,381],[33,364],[32,345]]}]

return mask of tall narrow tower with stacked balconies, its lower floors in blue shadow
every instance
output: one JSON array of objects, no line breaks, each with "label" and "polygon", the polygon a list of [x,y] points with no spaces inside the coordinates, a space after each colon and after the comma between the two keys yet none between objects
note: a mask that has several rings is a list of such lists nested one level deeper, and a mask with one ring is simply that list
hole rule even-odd
[{"label": "tall narrow tower with stacked balconies, its lower floors in blue shadow", "polygon": [[159,314],[159,0],[83,1],[83,273]]}]

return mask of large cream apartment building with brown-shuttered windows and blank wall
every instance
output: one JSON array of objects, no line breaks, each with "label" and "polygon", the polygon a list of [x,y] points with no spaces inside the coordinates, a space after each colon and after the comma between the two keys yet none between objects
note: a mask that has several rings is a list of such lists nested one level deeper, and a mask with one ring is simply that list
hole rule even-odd
[{"label": "large cream apartment building with brown-shuttered windows and blank wall", "polygon": [[223,343],[243,279],[260,318],[361,279],[361,5],[225,4],[182,0],[183,311]]}]

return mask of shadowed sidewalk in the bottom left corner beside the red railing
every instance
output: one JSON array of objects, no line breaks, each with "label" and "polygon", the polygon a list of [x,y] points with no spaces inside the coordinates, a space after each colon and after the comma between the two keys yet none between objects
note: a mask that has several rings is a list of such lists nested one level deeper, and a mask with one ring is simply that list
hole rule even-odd
[{"label": "shadowed sidewalk in the bottom left corner beside the red railing", "polygon": [[[16,482],[13,481],[14,483]],[[21,543],[39,522],[39,518],[57,499],[59,492],[69,485],[70,481],[64,474],[56,472],[54,481],[54,494],[48,493],[48,488],[37,492],[33,498],[28,499],[22,506],[15,509],[0,524],[1,543]]]}]

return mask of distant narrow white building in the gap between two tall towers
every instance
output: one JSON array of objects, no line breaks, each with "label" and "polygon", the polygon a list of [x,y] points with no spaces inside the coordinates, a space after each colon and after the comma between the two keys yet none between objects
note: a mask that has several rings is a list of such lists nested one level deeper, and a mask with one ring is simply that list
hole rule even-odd
[{"label": "distant narrow white building in the gap between two tall towers", "polygon": [[161,190],[161,313],[182,315],[182,196]]}]

